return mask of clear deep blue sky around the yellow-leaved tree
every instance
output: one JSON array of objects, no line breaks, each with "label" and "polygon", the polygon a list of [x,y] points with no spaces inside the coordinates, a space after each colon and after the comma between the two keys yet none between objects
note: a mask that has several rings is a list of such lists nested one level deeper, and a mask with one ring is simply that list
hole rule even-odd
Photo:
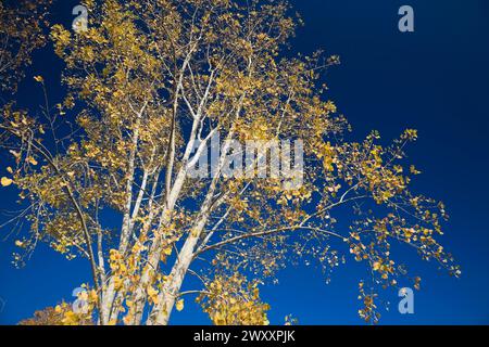
[{"label": "clear deep blue sky around the yellow-leaved tree", "polygon": [[[58,1],[54,22],[68,25],[77,1]],[[305,20],[292,50],[312,53],[325,49],[342,64],[328,73],[330,98],[362,139],[377,129],[388,141],[406,127],[419,131],[410,150],[423,170],[415,187],[446,202],[451,220],[442,243],[462,266],[455,280],[423,264],[409,249],[399,258],[423,278],[415,293],[415,314],[401,316],[394,292],[383,294],[392,303],[381,310],[383,324],[489,323],[489,2],[485,0],[297,0]],[[398,9],[415,11],[415,33],[401,34]],[[20,89],[21,102],[36,106],[41,93],[32,82],[42,75],[51,98],[60,93],[60,62],[50,51],[38,52]],[[58,101],[57,101],[58,102]],[[1,157],[3,160],[4,158]],[[0,165],[1,169],[5,165]],[[2,176],[4,172],[2,172]],[[13,190],[0,191],[0,208],[12,208]],[[2,230],[2,237],[8,230]],[[71,299],[72,290],[89,280],[84,260],[67,261],[40,246],[24,269],[11,266],[14,239],[0,243],[0,323],[14,324],[34,310]],[[350,259],[349,259],[350,260]],[[264,287],[272,304],[272,323],[293,313],[302,324],[359,324],[359,279],[365,269],[348,261],[325,284],[313,268],[290,268],[280,284]],[[195,308],[195,309],[193,309]],[[174,324],[209,323],[199,308],[186,300]]]}]

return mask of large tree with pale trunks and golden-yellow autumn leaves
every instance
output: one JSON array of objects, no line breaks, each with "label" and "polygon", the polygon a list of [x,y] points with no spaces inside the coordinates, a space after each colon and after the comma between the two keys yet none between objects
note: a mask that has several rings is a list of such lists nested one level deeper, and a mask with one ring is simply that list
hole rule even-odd
[{"label": "large tree with pale trunks and golden-yellow autumn leaves", "polygon": [[[359,312],[375,322],[383,287],[421,284],[392,243],[460,274],[439,243],[444,205],[410,189],[419,171],[405,149],[416,131],[388,145],[376,131],[348,141],[323,83],[339,59],[287,49],[300,18],[286,1],[84,5],[87,30],[50,33],[65,99],[42,117],[7,107],[0,139],[10,153],[3,189],[23,206],[8,224],[22,235],[15,259],[40,242],[86,258],[98,324],[167,324],[192,296],[215,324],[266,324],[260,285],[280,269],[305,262],[328,278],[349,261],[367,269]],[[191,175],[216,134],[212,175]],[[299,139],[300,185],[226,170],[229,153],[242,154],[230,140]],[[200,285],[187,287],[189,277]],[[79,321],[61,311],[64,323]]]}]

